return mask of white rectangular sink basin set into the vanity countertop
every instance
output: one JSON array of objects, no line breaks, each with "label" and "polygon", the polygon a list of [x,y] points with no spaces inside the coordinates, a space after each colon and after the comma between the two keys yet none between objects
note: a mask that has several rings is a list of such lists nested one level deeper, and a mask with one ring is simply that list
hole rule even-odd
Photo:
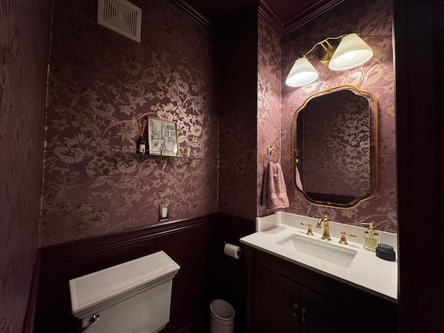
[{"label": "white rectangular sink basin set into the vanity countertop", "polygon": [[290,234],[276,243],[343,267],[350,266],[357,254],[356,250],[329,244],[325,241],[309,239],[298,234]]}]

